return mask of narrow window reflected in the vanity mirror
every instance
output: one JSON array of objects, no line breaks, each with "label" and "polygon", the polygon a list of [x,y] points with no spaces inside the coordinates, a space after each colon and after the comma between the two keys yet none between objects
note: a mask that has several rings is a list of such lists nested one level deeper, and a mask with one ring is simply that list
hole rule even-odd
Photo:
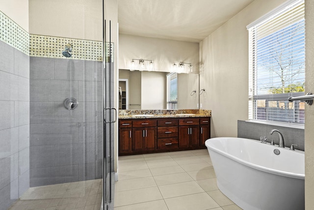
[{"label": "narrow window reflected in the vanity mirror", "polygon": [[178,74],[167,75],[167,109],[178,108]]}]

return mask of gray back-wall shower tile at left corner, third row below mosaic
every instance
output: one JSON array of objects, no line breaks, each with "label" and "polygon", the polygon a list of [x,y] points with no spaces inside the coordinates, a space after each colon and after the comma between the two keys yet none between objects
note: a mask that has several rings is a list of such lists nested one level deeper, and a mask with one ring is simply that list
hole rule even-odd
[{"label": "gray back-wall shower tile at left corner, third row below mosaic", "polygon": [[54,102],[30,102],[30,123],[53,123]]}]

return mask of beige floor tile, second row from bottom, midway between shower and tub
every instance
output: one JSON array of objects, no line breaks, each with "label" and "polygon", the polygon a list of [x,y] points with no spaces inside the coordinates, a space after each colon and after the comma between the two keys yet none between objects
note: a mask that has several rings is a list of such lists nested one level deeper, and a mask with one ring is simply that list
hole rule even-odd
[{"label": "beige floor tile, second row from bottom, midway between shower and tub", "polygon": [[195,181],[158,186],[163,198],[172,198],[205,192]]}]

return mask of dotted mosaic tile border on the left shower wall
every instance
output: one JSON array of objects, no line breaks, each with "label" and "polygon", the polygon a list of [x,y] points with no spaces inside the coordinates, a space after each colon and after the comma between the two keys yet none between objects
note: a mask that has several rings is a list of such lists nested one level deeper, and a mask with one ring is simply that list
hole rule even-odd
[{"label": "dotted mosaic tile border on the left shower wall", "polygon": [[29,55],[29,33],[0,11],[0,41]]}]

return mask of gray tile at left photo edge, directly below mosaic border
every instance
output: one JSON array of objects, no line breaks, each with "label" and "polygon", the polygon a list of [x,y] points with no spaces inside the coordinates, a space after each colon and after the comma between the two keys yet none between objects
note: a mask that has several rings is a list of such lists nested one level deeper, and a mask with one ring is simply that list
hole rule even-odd
[{"label": "gray tile at left photo edge, directly below mosaic border", "polygon": [[0,70],[14,73],[14,48],[0,41]]}]

